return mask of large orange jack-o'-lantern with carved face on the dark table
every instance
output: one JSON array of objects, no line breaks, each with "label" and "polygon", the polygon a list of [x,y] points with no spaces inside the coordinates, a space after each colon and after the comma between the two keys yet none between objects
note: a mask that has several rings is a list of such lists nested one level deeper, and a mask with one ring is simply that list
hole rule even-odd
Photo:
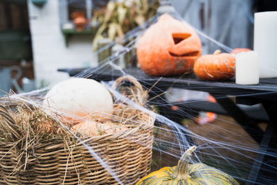
[{"label": "large orange jack-o'-lantern with carved face on the dark table", "polygon": [[195,60],[202,54],[202,44],[191,26],[166,14],[143,34],[136,54],[148,75],[178,75],[193,71]]}]

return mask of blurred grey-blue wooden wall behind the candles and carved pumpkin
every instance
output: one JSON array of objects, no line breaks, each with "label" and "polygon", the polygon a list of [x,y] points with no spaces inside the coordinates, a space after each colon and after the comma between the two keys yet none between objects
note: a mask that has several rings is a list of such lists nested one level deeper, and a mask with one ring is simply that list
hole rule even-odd
[{"label": "blurred grey-blue wooden wall behind the candles and carved pumpkin", "polygon": [[[231,48],[253,47],[253,0],[172,0],[171,2],[189,24],[218,42]],[[210,42],[204,44],[206,53],[217,49]]]}]

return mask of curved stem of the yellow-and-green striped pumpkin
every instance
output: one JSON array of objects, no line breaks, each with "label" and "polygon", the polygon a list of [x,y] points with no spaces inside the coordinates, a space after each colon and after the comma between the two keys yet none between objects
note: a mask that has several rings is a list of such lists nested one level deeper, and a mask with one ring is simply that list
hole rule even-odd
[{"label": "curved stem of the yellow-and-green striped pumpkin", "polygon": [[188,175],[188,164],[195,149],[196,146],[191,146],[188,150],[186,150],[181,159],[179,159],[175,173],[173,174],[174,179],[187,179],[190,177],[190,175]]}]

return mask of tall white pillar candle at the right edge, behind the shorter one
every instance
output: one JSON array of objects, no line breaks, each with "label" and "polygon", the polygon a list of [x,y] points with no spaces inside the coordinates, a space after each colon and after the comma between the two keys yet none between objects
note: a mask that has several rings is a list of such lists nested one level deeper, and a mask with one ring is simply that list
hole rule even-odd
[{"label": "tall white pillar candle at the right edge, behind the shorter one", "polygon": [[255,13],[254,51],[258,52],[260,78],[277,77],[277,12]]}]

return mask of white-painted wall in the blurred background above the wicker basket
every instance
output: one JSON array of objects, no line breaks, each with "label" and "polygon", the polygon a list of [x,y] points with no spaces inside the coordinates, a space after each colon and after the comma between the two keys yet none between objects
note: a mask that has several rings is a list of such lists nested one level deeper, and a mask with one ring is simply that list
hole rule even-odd
[{"label": "white-painted wall in the blurred background above the wicker basket", "polygon": [[28,0],[30,33],[32,35],[33,60],[37,88],[69,78],[60,68],[97,66],[93,55],[92,36],[73,35],[66,47],[60,29],[59,0],[48,0],[40,7]]}]

